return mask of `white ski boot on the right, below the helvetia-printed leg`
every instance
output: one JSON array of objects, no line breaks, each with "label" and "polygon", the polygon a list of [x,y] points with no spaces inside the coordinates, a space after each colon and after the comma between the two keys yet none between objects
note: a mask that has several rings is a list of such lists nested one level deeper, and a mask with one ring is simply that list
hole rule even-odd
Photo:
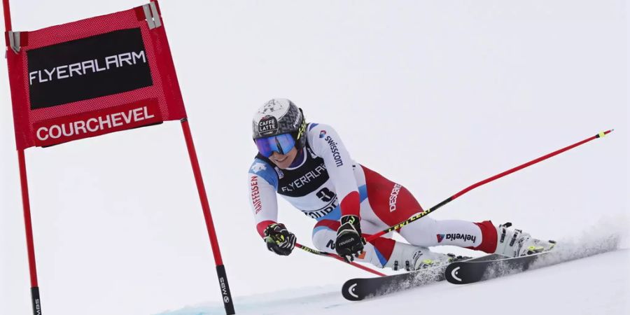
[{"label": "white ski boot on the right, below the helvetia-printed leg", "polygon": [[541,241],[522,230],[508,229],[510,226],[512,226],[510,222],[498,226],[496,232],[498,239],[494,253],[507,257],[519,257],[551,251],[556,245],[555,241]]}]

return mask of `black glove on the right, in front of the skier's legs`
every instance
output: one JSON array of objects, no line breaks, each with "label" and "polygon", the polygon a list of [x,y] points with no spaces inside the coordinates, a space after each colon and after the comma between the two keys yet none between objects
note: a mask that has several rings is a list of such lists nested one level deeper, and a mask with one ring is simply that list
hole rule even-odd
[{"label": "black glove on the right, in front of the skier's legs", "polygon": [[358,216],[342,216],[341,226],[337,229],[337,241],[335,241],[337,254],[346,262],[351,262],[363,252],[363,245],[365,245],[365,239],[361,236]]}]

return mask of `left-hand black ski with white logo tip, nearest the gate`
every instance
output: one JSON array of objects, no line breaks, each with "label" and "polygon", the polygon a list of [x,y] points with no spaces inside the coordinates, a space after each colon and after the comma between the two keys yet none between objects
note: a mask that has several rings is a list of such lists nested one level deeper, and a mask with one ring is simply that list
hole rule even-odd
[{"label": "left-hand black ski with white logo tip, nearest the gate", "polygon": [[446,266],[422,269],[404,274],[379,276],[375,278],[350,279],[342,287],[342,295],[346,300],[360,301],[366,297],[386,295],[389,293],[423,286],[444,280]]}]

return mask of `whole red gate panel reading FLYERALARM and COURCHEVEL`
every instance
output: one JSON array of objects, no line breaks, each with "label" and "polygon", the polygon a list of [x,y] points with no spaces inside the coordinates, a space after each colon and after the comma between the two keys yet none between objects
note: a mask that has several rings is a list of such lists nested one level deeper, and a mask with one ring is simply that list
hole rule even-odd
[{"label": "whole red gate panel reading FLYERALARM and COURCHEVEL", "polygon": [[186,118],[157,3],[5,36],[18,150]]}]

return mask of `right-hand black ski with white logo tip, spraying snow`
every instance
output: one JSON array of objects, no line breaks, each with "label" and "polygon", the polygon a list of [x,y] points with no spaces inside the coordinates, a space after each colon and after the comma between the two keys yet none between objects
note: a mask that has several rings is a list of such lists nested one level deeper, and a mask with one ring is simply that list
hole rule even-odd
[{"label": "right-hand black ski with white logo tip, spraying snow", "polygon": [[524,272],[533,262],[551,251],[508,258],[503,255],[485,255],[474,260],[453,262],[446,267],[444,277],[450,283],[468,284]]}]

